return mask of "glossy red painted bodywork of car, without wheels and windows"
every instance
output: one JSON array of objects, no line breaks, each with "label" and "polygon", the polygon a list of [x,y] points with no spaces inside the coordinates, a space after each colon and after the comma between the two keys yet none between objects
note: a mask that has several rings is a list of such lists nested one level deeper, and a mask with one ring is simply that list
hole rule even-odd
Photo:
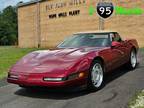
[{"label": "glossy red painted bodywork of car, without wheels and windows", "polygon": [[[118,47],[83,47],[32,52],[19,60],[9,71],[8,82],[25,86],[63,87],[87,84],[92,61],[99,57],[109,72],[129,60],[132,47],[138,50],[136,40],[126,40]],[[68,79],[72,74],[83,77]],[[63,81],[44,81],[44,78],[65,78]]]}]

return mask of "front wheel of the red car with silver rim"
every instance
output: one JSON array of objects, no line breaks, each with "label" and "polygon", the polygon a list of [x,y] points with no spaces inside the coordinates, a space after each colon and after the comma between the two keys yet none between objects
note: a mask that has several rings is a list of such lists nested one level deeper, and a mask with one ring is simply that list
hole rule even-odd
[{"label": "front wheel of the red car with silver rim", "polygon": [[100,60],[95,60],[88,75],[88,90],[96,91],[104,86],[104,65]]}]

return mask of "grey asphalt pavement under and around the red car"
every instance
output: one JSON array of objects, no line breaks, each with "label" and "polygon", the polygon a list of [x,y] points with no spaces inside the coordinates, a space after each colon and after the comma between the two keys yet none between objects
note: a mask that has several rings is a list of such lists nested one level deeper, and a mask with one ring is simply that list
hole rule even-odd
[{"label": "grey asphalt pavement under and around the red car", "polygon": [[127,108],[133,95],[144,89],[144,57],[135,70],[119,68],[108,74],[99,91],[65,92],[26,90],[0,81],[0,108]]}]

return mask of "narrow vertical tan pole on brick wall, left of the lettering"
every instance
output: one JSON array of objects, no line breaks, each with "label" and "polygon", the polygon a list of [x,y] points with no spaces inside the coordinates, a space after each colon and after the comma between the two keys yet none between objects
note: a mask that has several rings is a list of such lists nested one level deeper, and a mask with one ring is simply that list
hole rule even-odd
[{"label": "narrow vertical tan pole on brick wall, left of the lettering", "polygon": [[41,47],[41,30],[40,30],[40,0],[37,0],[37,47]]}]

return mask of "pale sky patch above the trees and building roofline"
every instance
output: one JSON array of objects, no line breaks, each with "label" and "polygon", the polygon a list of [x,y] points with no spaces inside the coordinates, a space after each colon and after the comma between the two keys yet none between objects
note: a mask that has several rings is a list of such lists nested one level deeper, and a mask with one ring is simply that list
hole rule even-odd
[{"label": "pale sky patch above the trees and building roofline", "polygon": [[20,1],[28,2],[30,0],[0,0],[0,11],[3,10],[5,7],[7,7],[9,5],[14,6]]}]

